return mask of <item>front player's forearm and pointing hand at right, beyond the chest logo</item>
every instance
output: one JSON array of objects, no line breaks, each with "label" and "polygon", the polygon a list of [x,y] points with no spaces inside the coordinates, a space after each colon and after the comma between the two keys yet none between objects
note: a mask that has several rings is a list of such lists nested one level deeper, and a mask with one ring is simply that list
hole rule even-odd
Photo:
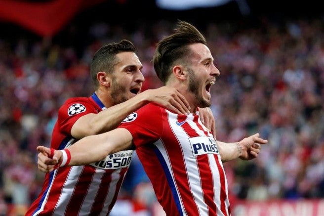
[{"label": "front player's forearm and pointing hand at right, beyond the chest logo", "polygon": [[268,140],[260,138],[259,133],[255,133],[239,142],[225,143],[217,141],[217,147],[222,161],[227,162],[237,158],[251,160],[258,156],[260,147],[268,143]]}]

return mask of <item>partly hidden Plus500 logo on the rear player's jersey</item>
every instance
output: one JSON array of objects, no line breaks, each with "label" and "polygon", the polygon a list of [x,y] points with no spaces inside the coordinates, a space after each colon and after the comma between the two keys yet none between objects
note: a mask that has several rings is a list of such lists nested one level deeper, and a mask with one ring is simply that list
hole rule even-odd
[{"label": "partly hidden Plus500 logo on the rear player's jersey", "polygon": [[105,160],[91,163],[90,165],[96,168],[110,170],[129,167],[133,151],[126,150],[108,155]]}]

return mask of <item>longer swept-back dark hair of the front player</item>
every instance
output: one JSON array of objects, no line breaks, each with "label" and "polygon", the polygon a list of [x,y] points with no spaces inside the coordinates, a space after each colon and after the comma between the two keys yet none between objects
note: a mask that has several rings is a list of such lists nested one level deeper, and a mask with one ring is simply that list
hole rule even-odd
[{"label": "longer swept-back dark hair of the front player", "polygon": [[188,45],[203,43],[204,36],[192,24],[178,20],[174,33],[164,37],[158,44],[154,53],[153,63],[157,76],[165,84],[171,75],[171,67],[178,60],[186,61],[190,54]]}]

